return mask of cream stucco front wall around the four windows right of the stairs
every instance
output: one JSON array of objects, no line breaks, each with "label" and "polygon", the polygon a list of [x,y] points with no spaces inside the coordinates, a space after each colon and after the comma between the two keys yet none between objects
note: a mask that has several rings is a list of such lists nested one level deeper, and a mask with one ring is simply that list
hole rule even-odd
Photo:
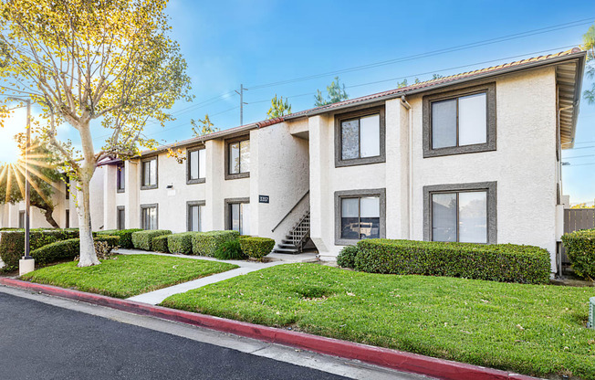
[{"label": "cream stucco front wall around the four windows right of the stairs", "polygon": [[[422,95],[412,106],[412,228],[423,239],[423,186],[497,182],[497,242],[556,252],[556,81],[553,68],[496,79],[497,149],[423,158]],[[334,259],[333,195],[387,188],[387,237],[409,237],[408,111],[386,102],[386,163],[334,166],[334,118],[315,116],[310,128],[312,235],[323,259]]]}]

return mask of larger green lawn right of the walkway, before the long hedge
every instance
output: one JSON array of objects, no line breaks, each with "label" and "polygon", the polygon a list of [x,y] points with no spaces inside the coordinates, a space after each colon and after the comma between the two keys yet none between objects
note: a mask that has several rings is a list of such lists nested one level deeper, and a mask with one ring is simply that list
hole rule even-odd
[{"label": "larger green lawn right of the walkway, before the long hedge", "polygon": [[162,302],[520,372],[595,379],[594,288],[354,272],[317,264],[258,270]]}]

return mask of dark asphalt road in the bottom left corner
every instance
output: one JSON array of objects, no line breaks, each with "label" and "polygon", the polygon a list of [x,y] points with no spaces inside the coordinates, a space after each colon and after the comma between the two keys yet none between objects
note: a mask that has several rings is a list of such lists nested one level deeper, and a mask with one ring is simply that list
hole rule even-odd
[{"label": "dark asphalt road in the bottom left corner", "polygon": [[0,379],[344,379],[0,292]]}]

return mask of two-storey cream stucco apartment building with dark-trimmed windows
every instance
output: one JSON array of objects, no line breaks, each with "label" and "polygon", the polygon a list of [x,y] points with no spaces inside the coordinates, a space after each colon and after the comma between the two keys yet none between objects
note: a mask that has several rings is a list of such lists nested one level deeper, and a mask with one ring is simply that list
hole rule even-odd
[{"label": "two-storey cream stucco apartment building with dark-trimmed windows", "polygon": [[182,164],[172,145],[105,162],[93,227],[311,239],[321,259],[372,237],[529,244],[556,272],[584,63],[575,48],[214,132],[177,142]]}]

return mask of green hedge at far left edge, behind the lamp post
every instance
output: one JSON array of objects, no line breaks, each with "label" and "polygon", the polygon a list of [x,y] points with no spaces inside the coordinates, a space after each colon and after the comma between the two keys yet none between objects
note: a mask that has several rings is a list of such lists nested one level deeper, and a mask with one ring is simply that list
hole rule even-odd
[{"label": "green hedge at far left edge, behind the lamp post", "polygon": [[[73,229],[31,229],[29,247],[31,251],[54,243],[78,237],[78,230]],[[18,269],[18,260],[25,255],[25,231],[23,229],[6,230],[0,233],[0,259],[4,261],[3,270]]]}]

